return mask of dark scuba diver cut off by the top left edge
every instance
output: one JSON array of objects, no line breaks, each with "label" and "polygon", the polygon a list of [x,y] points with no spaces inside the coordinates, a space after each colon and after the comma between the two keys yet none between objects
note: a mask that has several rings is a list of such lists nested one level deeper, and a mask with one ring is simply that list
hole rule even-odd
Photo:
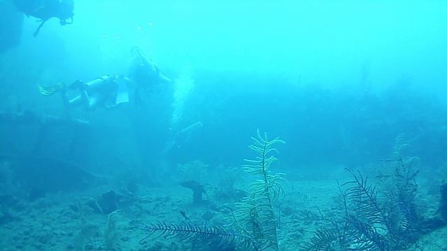
[{"label": "dark scuba diver cut off by the top left edge", "polygon": [[73,0],[12,0],[17,10],[28,17],[37,17],[41,22],[34,32],[37,36],[45,22],[57,17],[61,25],[73,23]]}]

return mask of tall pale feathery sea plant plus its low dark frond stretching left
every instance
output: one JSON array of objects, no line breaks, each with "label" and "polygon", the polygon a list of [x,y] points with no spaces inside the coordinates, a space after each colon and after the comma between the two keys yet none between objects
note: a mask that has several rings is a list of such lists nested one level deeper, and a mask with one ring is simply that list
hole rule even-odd
[{"label": "tall pale feathery sea plant plus its low dark frond stretching left", "polygon": [[[231,213],[233,223],[229,227],[168,225],[166,222],[159,222],[142,227],[149,231],[149,234],[141,241],[158,234],[156,237],[177,236],[181,240],[200,241],[204,245],[218,243],[235,245],[244,250],[279,250],[274,202],[284,196],[279,183],[284,174],[272,174],[270,166],[277,162],[273,155],[277,152],[274,145],[285,142],[279,138],[269,140],[267,134],[261,135],[259,130],[257,137],[252,139],[254,144],[249,147],[256,153],[256,158],[245,160],[247,164],[242,168],[258,179],[250,184],[247,197],[235,205],[237,209]],[[196,194],[194,197],[197,197]]]}]

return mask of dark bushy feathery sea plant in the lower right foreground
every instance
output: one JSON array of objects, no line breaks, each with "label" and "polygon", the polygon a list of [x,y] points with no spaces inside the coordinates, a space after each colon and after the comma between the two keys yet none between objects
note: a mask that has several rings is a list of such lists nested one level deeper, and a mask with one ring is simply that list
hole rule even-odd
[{"label": "dark bushy feathery sea plant in the lower right foreground", "polygon": [[343,210],[301,244],[301,250],[420,250],[423,221],[415,203],[417,170],[395,160],[388,186],[379,192],[360,172],[348,170],[351,181],[339,185]]}]

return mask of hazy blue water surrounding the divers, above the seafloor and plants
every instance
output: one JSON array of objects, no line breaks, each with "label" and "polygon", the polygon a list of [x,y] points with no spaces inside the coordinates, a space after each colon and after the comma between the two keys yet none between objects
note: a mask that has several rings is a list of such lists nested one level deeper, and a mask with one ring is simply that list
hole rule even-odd
[{"label": "hazy blue water surrounding the divers, above the seafloor and plants", "polygon": [[[52,18],[34,37],[38,19],[0,1],[0,195],[27,204],[100,186],[54,173],[60,165],[101,176],[100,184],[129,174],[147,188],[177,184],[179,167],[198,160],[210,175],[240,168],[259,129],[286,141],[277,172],[291,180],[336,184],[344,168],[374,175],[381,160],[414,157],[421,182],[432,183],[422,190],[438,196],[447,168],[445,1],[74,3],[73,24]],[[67,109],[61,91],[38,91],[131,77],[135,48],[171,79],[142,91],[140,103]]]}]

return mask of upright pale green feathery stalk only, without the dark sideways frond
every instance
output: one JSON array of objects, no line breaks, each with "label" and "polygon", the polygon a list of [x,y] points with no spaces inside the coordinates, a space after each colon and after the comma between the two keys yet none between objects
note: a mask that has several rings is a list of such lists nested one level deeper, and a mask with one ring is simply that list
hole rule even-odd
[{"label": "upright pale green feathery stalk only, without the dark sideways frond", "polygon": [[242,165],[245,172],[258,178],[250,184],[249,195],[242,202],[236,204],[237,210],[233,213],[235,225],[238,229],[256,240],[263,250],[279,250],[277,240],[277,217],[274,213],[274,201],[284,195],[279,181],[284,174],[272,174],[270,167],[278,161],[273,153],[276,144],[285,142],[278,137],[268,139],[267,134],[261,135],[257,131],[257,137],[251,137],[253,144],[249,147],[257,156],[254,160],[245,160]]}]

